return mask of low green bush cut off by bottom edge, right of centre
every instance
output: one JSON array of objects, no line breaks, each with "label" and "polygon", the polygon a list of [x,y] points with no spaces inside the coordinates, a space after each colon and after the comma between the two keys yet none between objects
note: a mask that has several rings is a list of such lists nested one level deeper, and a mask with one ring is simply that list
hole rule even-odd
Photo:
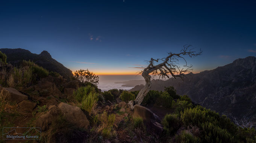
[{"label": "low green bush cut off by bottom edge, right of centre", "polygon": [[[181,134],[175,136],[176,143],[200,143],[200,139],[198,137],[193,136],[186,130],[183,130]],[[210,142],[209,142],[210,143]],[[215,142],[212,142],[215,143]]]}]

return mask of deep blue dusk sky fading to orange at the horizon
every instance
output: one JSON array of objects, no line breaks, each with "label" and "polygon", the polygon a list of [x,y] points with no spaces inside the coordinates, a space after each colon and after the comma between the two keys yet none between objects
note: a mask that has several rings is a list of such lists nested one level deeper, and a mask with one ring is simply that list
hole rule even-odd
[{"label": "deep blue dusk sky fading to orange at the horizon", "polygon": [[0,1],[0,48],[47,50],[72,71],[135,74],[185,44],[199,72],[256,56],[256,1]]}]

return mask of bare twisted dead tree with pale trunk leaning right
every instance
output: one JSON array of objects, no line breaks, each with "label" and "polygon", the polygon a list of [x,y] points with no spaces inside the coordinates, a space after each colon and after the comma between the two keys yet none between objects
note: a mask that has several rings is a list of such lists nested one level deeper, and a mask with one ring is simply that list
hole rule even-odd
[{"label": "bare twisted dead tree with pale trunk leaning right", "polygon": [[[162,59],[153,59],[151,58],[148,62],[149,65],[143,69],[143,71],[139,72],[139,74],[142,75],[145,79],[145,86],[139,91],[138,96],[136,97],[135,101],[130,101],[128,105],[131,109],[134,109],[133,106],[135,104],[140,105],[143,101],[144,97],[147,95],[148,91],[150,90],[152,84],[151,84],[151,75],[152,77],[159,76],[159,78],[176,78],[179,77],[184,80],[186,77],[186,73],[191,72],[192,65],[188,66],[185,56],[194,57],[201,55],[203,51],[195,52],[194,48],[191,48],[191,45],[185,45],[183,46],[183,49],[180,50],[180,53],[172,53],[169,52],[168,56]],[[185,65],[183,68],[180,68],[179,66],[179,60],[183,59],[185,61]],[[158,63],[160,62],[161,63]],[[158,64],[156,64],[158,63]],[[151,75],[150,75],[151,74]],[[169,76],[171,75],[171,76]]]}]

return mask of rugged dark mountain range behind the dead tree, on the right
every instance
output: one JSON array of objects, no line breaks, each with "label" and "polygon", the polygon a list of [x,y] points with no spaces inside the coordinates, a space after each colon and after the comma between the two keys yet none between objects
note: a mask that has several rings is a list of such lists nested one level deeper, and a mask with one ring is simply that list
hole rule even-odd
[{"label": "rugged dark mountain range behind the dead tree, on the right", "polygon": [[[193,102],[232,118],[250,117],[256,121],[256,57],[236,59],[232,63],[198,74],[190,73],[183,83],[179,78],[152,80],[151,90],[174,86],[177,94],[188,95]],[[140,90],[135,86],[130,91]]]}]

